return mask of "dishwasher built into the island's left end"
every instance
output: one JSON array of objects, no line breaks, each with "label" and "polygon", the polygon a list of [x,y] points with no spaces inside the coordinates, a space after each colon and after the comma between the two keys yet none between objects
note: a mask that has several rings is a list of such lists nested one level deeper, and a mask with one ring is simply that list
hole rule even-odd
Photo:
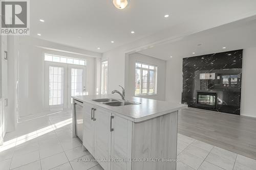
[{"label": "dishwasher built into the island's left end", "polygon": [[74,118],[75,118],[75,134],[82,142],[82,126],[83,126],[83,103],[74,100]]}]

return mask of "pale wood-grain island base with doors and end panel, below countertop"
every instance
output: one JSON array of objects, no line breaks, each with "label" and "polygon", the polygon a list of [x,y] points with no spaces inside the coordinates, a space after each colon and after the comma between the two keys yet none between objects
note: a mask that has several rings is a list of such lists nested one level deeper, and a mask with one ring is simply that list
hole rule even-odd
[{"label": "pale wood-grain island base with doors and end panel, below countertop", "polygon": [[134,123],[98,105],[84,107],[83,145],[104,170],[176,169],[176,162],[140,160],[177,159],[178,111]]}]

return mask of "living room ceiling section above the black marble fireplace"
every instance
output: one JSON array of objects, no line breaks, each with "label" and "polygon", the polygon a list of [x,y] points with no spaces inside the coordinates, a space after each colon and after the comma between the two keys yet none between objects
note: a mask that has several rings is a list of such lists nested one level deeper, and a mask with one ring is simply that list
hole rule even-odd
[{"label": "living room ceiling section above the black marble fireplace", "polygon": [[[173,60],[256,46],[256,16],[155,45],[139,53]],[[195,54],[193,54],[195,53]],[[170,58],[172,56],[172,58]]]}]

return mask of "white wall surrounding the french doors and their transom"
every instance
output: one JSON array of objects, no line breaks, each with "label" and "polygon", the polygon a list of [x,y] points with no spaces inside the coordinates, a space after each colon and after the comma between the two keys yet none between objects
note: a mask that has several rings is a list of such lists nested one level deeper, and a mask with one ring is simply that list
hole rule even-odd
[{"label": "white wall surrounding the french doors and their transom", "polygon": [[[49,46],[60,51],[44,48]],[[95,94],[95,58],[85,56],[87,51],[28,36],[20,37],[18,50],[18,106],[20,117],[40,115],[47,111],[45,110],[44,87],[45,53],[86,59],[86,89],[88,94]],[[77,55],[81,53],[83,55]],[[91,56],[92,54],[94,53],[89,55]]]}]

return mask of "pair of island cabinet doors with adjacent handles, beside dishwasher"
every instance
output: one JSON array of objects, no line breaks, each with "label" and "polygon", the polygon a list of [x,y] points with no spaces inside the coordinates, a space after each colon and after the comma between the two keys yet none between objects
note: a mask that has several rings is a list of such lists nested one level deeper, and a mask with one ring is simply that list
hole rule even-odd
[{"label": "pair of island cabinet doors with adjacent handles, beside dishwasher", "polygon": [[83,145],[105,169],[111,162],[111,112],[85,103]]}]

